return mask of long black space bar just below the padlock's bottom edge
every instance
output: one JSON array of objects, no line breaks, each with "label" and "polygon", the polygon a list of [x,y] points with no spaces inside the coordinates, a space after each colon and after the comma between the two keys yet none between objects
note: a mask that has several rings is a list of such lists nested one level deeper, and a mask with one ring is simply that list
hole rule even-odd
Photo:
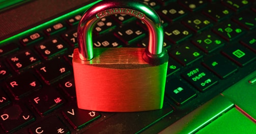
[{"label": "long black space bar just below the padlock's bottom edge", "polygon": [[160,110],[117,113],[84,133],[136,133],[151,126],[173,111],[171,106],[164,103]]}]

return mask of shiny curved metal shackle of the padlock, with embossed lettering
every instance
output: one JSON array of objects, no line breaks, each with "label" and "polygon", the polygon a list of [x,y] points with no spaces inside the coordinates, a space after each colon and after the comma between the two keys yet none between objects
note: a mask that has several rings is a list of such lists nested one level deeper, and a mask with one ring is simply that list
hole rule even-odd
[{"label": "shiny curved metal shackle of the padlock, with embossed lettering", "polygon": [[143,59],[159,65],[168,59],[163,48],[163,27],[158,14],[149,6],[137,1],[105,0],[89,8],[82,16],[77,29],[79,58],[93,59],[92,31],[97,20],[114,14],[127,14],[143,21],[149,29],[149,43]]}]

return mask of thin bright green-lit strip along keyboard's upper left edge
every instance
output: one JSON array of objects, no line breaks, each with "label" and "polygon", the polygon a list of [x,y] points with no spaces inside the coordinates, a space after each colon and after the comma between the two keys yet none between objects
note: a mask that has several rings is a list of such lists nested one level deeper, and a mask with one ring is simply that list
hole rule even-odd
[{"label": "thin bright green-lit strip along keyboard's upper left edge", "polygon": [[86,6],[84,6],[84,7],[81,7],[81,8],[78,8],[78,9],[74,10],[74,11],[71,11],[71,12],[69,12],[69,13],[67,13],[67,14],[64,14],[64,15],[62,15],[62,16],[60,16],[60,17],[57,17],[57,18],[55,18],[55,19],[52,19],[52,20],[47,21],[47,22],[45,22],[45,23],[42,23],[42,24],[40,24],[40,25],[38,25],[38,26],[35,26],[35,27],[31,28],[31,29],[22,31],[22,32],[18,33],[18,34],[15,35],[15,36],[12,36],[12,37],[10,37],[10,38],[7,38],[7,39],[5,39],[5,40],[0,41],[0,44],[4,44],[4,43],[7,43],[7,42],[9,42],[9,41],[11,41],[11,40],[15,40],[15,39],[17,39],[17,38],[19,38],[19,37],[21,37],[21,36],[24,36],[24,35],[26,35],[26,34],[28,34],[28,33],[31,33],[31,32],[33,32],[33,31],[36,31],[36,30],[38,30],[39,28],[45,27],[45,26],[47,26],[47,25],[49,25],[49,24],[51,24],[51,23],[54,23],[54,22],[59,21],[59,20],[62,20],[63,18],[67,18],[67,17],[70,17],[70,16],[72,16],[72,15],[76,15],[77,13],[84,12],[84,11],[86,11],[88,8],[92,7],[94,4],[96,4],[96,3],[100,2],[100,1],[102,1],[102,0],[98,0],[98,1],[96,1],[96,2],[93,2],[93,3],[91,3],[91,4],[86,5]]}]

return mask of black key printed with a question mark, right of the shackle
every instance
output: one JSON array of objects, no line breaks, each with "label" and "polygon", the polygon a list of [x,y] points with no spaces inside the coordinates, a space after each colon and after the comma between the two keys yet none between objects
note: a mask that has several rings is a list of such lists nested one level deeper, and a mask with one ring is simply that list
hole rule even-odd
[{"label": "black key printed with a question mark, right of the shackle", "polygon": [[225,44],[221,38],[216,37],[212,32],[202,33],[193,38],[191,42],[205,53],[211,53]]}]

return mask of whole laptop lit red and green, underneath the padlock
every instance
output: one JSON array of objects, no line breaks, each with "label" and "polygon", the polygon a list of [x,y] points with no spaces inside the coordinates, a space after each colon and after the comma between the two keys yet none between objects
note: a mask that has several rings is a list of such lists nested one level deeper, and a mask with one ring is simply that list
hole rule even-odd
[{"label": "whole laptop lit red and green, underneath the padlock", "polygon": [[[253,43],[250,44],[250,41],[253,42],[254,39],[254,27],[253,21],[248,20],[250,23],[245,21],[247,22],[244,22],[245,25],[249,23],[246,28],[241,21],[244,18],[236,18],[243,15],[246,20],[251,18],[246,16],[255,14],[253,2],[248,6],[244,4],[248,9],[239,10],[232,8],[227,1],[202,1],[203,4],[198,4],[199,8],[195,10],[189,9],[191,4],[186,6],[186,1],[152,2],[148,3],[157,10],[164,21],[165,48],[170,57],[166,76],[165,103],[161,110],[133,113],[95,112],[80,110],[76,107],[74,86],[71,86],[73,74],[70,58],[72,58],[72,48],[77,47],[77,44],[71,41],[79,20],[76,18],[97,2],[29,1],[3,10],[0,14],[2,18],[0,47],[10,51],[7,53],[4,51],[1,55],[1,74],[4,74],[1,78],[2,133],[54,132],[51,130],[59,133],[253,132],[255,130],[253,103],[255,102],[253,99],[255,53]],[[177,16],[173,15],[174,10],[178,9],[171,5],[176,7],[178,5],[179,11],[182,12],[178,12]],[[194,5],[197,6],[197,3],[194,2]],[[218,5],[220,9],[224,8],[222,9],[224,15],[217,14],[217,11],[216,15],[212,14],[210,10],[212,5]],[[171,16],[168,16],[169,14]],[[176,17],[172,18],[172,15]],[[192,15],[195,15],[195,18]],[[105,38],[102,38],[104,34],[111,35],[111,39],[115,39],[113,42],[119,41],[118,44],[121,44],[119,47],[144,47],[147,42],[145,38],[147,30],[143,29],[143,26],[132,29],[130,25],[140,26],[140,23],[127,16],[124,17],[127,20],[125,22],[123,19],[120,20],[120,17],[123,16],[109,17],[108,21],[116,23],[121,29],[116,30],[111,27],[110,30],[106,29],[103,32],[95,29],[95,35],[99,36],[99,38],[95,36],[95,47],[98,42],[100,42],[98,45],[105,47],[103,46]],[[190,25],[191,21],[192,25]],[[200,25],[201,21],[209,25]],[[178,25],[182,27],[173,28]],[[54,26],[61,27],[47,31]],[[130,42],[127,43],[120,40],[123,39],[122,37],[113,35],[115,32],[125,32],[129,29],[144,31],[143,36],[140,35],[140,38],[135,41],[128,38]],[[107,31],[110,33],[106,33]],[[173,35],[182,35],[182,37],[173,37]],[[52,41],[61,42],[65,47],[60,51],[52,50],[54,53],[50,56],[45,55],[45,51],[41,51],[41,45],[46,46]],[[215,44],[211,44],[212,41]],[[213,45],[214,48],[208,49],[209,47],[205,45]],[[7,46],[12,47],[10,49]],[[34,59],[32,64],[26,65],[25,68],[21,66],[19,69],[20,64],[23,63],[18,61],[23,58],[22,56],[19,58],[22,52],[33,54]],[[189,59],[189,57],[192,58]],[[218,60],[222,58],[224,60]],[[67,73],[55,75],[56,70],[53,70],[55,65],[51,65],[53,63],[63,65]],[[51,66],[54,75],[40,72],[45,72],[43,69],[48,68],[48,65]],[[63,68],[63,66],[60,67]],[[59,69],[59,66],[56,69]],[[197,71],[196,76],[202,78],[198,79],[199,83],[193,79],[195,77],[189,76],[191,71]],[[23,82],[22,78],[32,79],[29,85],[33,85],[36,81],[36,86],[19,87],[22,85],[19,84]],[[48,101],[41,103],[40,99],[42,100],[45,96],[52,99],[53,103],[49,104]],[[11,109],[22,111],[18,116],[21,122],[10,118],[13,114],[8,110]],[[237,120],[235,120],[236,117]],[[6,122],[9,124],[5,124]],[[55,127],[55,124],[58,125]],[[54,127],[51,128],[51,126]]]}]

